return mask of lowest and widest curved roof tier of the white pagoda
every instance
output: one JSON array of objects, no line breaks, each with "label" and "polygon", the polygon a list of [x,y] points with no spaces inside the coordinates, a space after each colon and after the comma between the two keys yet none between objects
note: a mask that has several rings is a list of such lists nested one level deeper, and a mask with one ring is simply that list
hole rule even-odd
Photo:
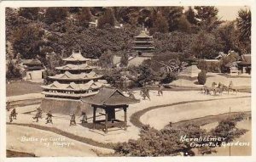
[{"label": "lowest and widest curved roof tier of the white pagoda", "polygon": [[69,84],[62,84],[58,81],[54,81],[53,83],[42,86],[44,89],[50,89],[50,90],[64,90],[64,91],[86,91],[90,89],[99,89],[102,86],[106,86],[108,83],[106,81],[89,81],[85,84],[76,84],[74,82],[71,82]]}]

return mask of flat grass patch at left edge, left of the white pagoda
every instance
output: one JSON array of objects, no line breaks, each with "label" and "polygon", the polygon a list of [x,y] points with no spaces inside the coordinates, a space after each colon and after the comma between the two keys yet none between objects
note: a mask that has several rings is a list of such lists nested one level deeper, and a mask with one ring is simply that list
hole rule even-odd
[{"label": "flat grass patch at left edge, left of the white pagoda", "polygon": [[6,84],[6,96],[16,96],[28,93],[42,92],[42,83],[34,83],[31,81],[12,81]]}]

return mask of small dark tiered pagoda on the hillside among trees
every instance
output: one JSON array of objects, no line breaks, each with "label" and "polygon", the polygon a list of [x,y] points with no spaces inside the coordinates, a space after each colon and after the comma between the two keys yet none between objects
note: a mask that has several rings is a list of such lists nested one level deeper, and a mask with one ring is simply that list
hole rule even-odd
[{"label": "small dark tiered pagoda on the hillside among trees", "polygon": [[141,31],[138,36],[134,36],[134,50],[137,53],[153,53],[154,45],[153,45],[153,36],[148,36],[146,31]]}]

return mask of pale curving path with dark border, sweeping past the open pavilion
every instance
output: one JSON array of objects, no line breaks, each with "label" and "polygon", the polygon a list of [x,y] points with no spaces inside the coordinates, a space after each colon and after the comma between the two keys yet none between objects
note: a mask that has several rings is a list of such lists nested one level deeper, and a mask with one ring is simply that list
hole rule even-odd
[{"label": "pale curving path with dark border, sweeping past the open pavilion", "polygon": [[[69,126],[69,118],[55,118],[54,125],[45,125],[44,120],[35,123],[32,120],[32,115],[20,114],[18,120],[15,120],[15,123],[8,123],[8,125],[16,126],[27,126],[36,128],[44,131],[51,131],[56,134],[59,134],[63,137],[68,137],[70,139],[84,142],[92,146],[100,148],[113,148],[114,143],[117,142],[126,142],[129,139],[137,139],[139,137],[139,128],[143,126],[143,123],[140,121],[140,118],[147,112],[153,109],[161,109],[168,106],[182,105],[186,103],[202,103],[206,101],[216,101],[216,100],[226,100],[226,99],[236,99],[236,98],[251,98],[250,94],[240,93],[236,97],[232,95],[223,95],[223,96],[209,96],[204,95],[199,92],[164,92],[164,96],[160,97],[156,95],[156,92],[151,93],[151,101],[141,100],[141,103],[131,105],[128,110],[128,129],[127,131],[111,131],[109,134],[102,135],[102,131],[90,131],[90,129],[84,126]],[[139,95],[137,98],[141,98]],[[118,112],[116,115],[119,119],[123,119],[123,112]],[[155,122],[158,122],[160,119],[156,119]],[[7,132],[9,133],[9,132]]]}]

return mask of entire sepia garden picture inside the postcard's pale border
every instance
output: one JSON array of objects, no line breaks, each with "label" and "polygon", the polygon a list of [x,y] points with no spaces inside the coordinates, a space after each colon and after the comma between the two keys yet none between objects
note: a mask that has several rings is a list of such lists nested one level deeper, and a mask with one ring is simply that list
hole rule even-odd
[{"label": "entire sepia garden picture inside the postcard's pale border", "polygon": [[252,156],[251,9],[5,7],[6,159]]}]

